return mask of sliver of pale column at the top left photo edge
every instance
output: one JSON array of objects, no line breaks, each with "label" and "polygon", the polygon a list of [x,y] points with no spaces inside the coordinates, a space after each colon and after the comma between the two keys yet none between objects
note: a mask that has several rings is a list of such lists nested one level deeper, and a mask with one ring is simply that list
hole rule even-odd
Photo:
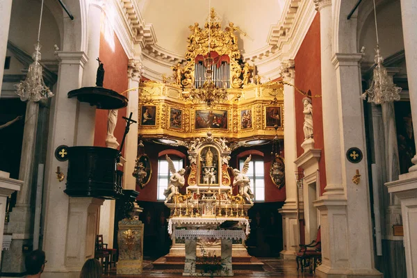
[{"label": "sliver of pale column at the top left photo edge", "polygon": [[1,85],[3,84],[4,61],[6,60],[10,15],[12,14],[12,1],[0,1],[0,97]]}]

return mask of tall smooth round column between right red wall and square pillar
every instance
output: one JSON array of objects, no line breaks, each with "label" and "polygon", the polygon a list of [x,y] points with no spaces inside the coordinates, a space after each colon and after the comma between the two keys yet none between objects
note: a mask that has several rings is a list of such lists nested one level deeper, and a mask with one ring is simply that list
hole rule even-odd
[{"label": "tall smooth round column between right red wall and square pillar", "polygon": [[323,139],[325,149],[328,150],[325,152],[327,186],[324,195],[335,195],[334,198],[343,199],[341,131],[339,128],[339,107],[335,105],[337,100],[336,72],[332,64],[334,55],[332,1],[314,0],[314,3],[320,13]]}]

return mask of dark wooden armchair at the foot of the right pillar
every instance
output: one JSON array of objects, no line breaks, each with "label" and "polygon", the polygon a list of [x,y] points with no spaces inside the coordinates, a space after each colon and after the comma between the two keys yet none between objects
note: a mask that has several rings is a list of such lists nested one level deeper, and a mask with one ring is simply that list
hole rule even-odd
[{"label": "dark wooden armchair at the foot of the right pillar", "polygon": [[320,227],[318,227],[316,240],[311,241],[308,245],[300,244],[300,251],[297,252],[295,260],[297,261],[297,270],[301,264],[301,272],[304,272],[306,266],[310,268],[310,272],[316,271],[317,264],[321,262]]}]

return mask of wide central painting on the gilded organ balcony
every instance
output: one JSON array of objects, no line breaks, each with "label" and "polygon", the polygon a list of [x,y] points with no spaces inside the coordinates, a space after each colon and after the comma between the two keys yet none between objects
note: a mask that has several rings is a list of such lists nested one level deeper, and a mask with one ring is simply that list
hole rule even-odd
[{"label": "wide central painting on the gilded organ balcony", "polygon": [[227,129],[227,110],[195,111],[195,129]]}]

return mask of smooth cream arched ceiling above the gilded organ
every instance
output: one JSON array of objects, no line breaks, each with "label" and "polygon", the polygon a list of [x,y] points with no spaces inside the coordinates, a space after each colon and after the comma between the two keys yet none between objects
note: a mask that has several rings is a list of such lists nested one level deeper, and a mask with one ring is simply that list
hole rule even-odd
[{"label": "smooth cream arched ceiling above the gilded organ", "polygon": [[[238,35],[242,54],[254,54],[268,47],[270,27],[281,18],[286,0],[211,0],[211,7],[221,19],[222,28],[234,22],[244,33]],[[204,26],[208,19],[208,0],[138,0],[143,19],[152,24],[156,45],[177,56],[186,52],[188,26]]]}]

